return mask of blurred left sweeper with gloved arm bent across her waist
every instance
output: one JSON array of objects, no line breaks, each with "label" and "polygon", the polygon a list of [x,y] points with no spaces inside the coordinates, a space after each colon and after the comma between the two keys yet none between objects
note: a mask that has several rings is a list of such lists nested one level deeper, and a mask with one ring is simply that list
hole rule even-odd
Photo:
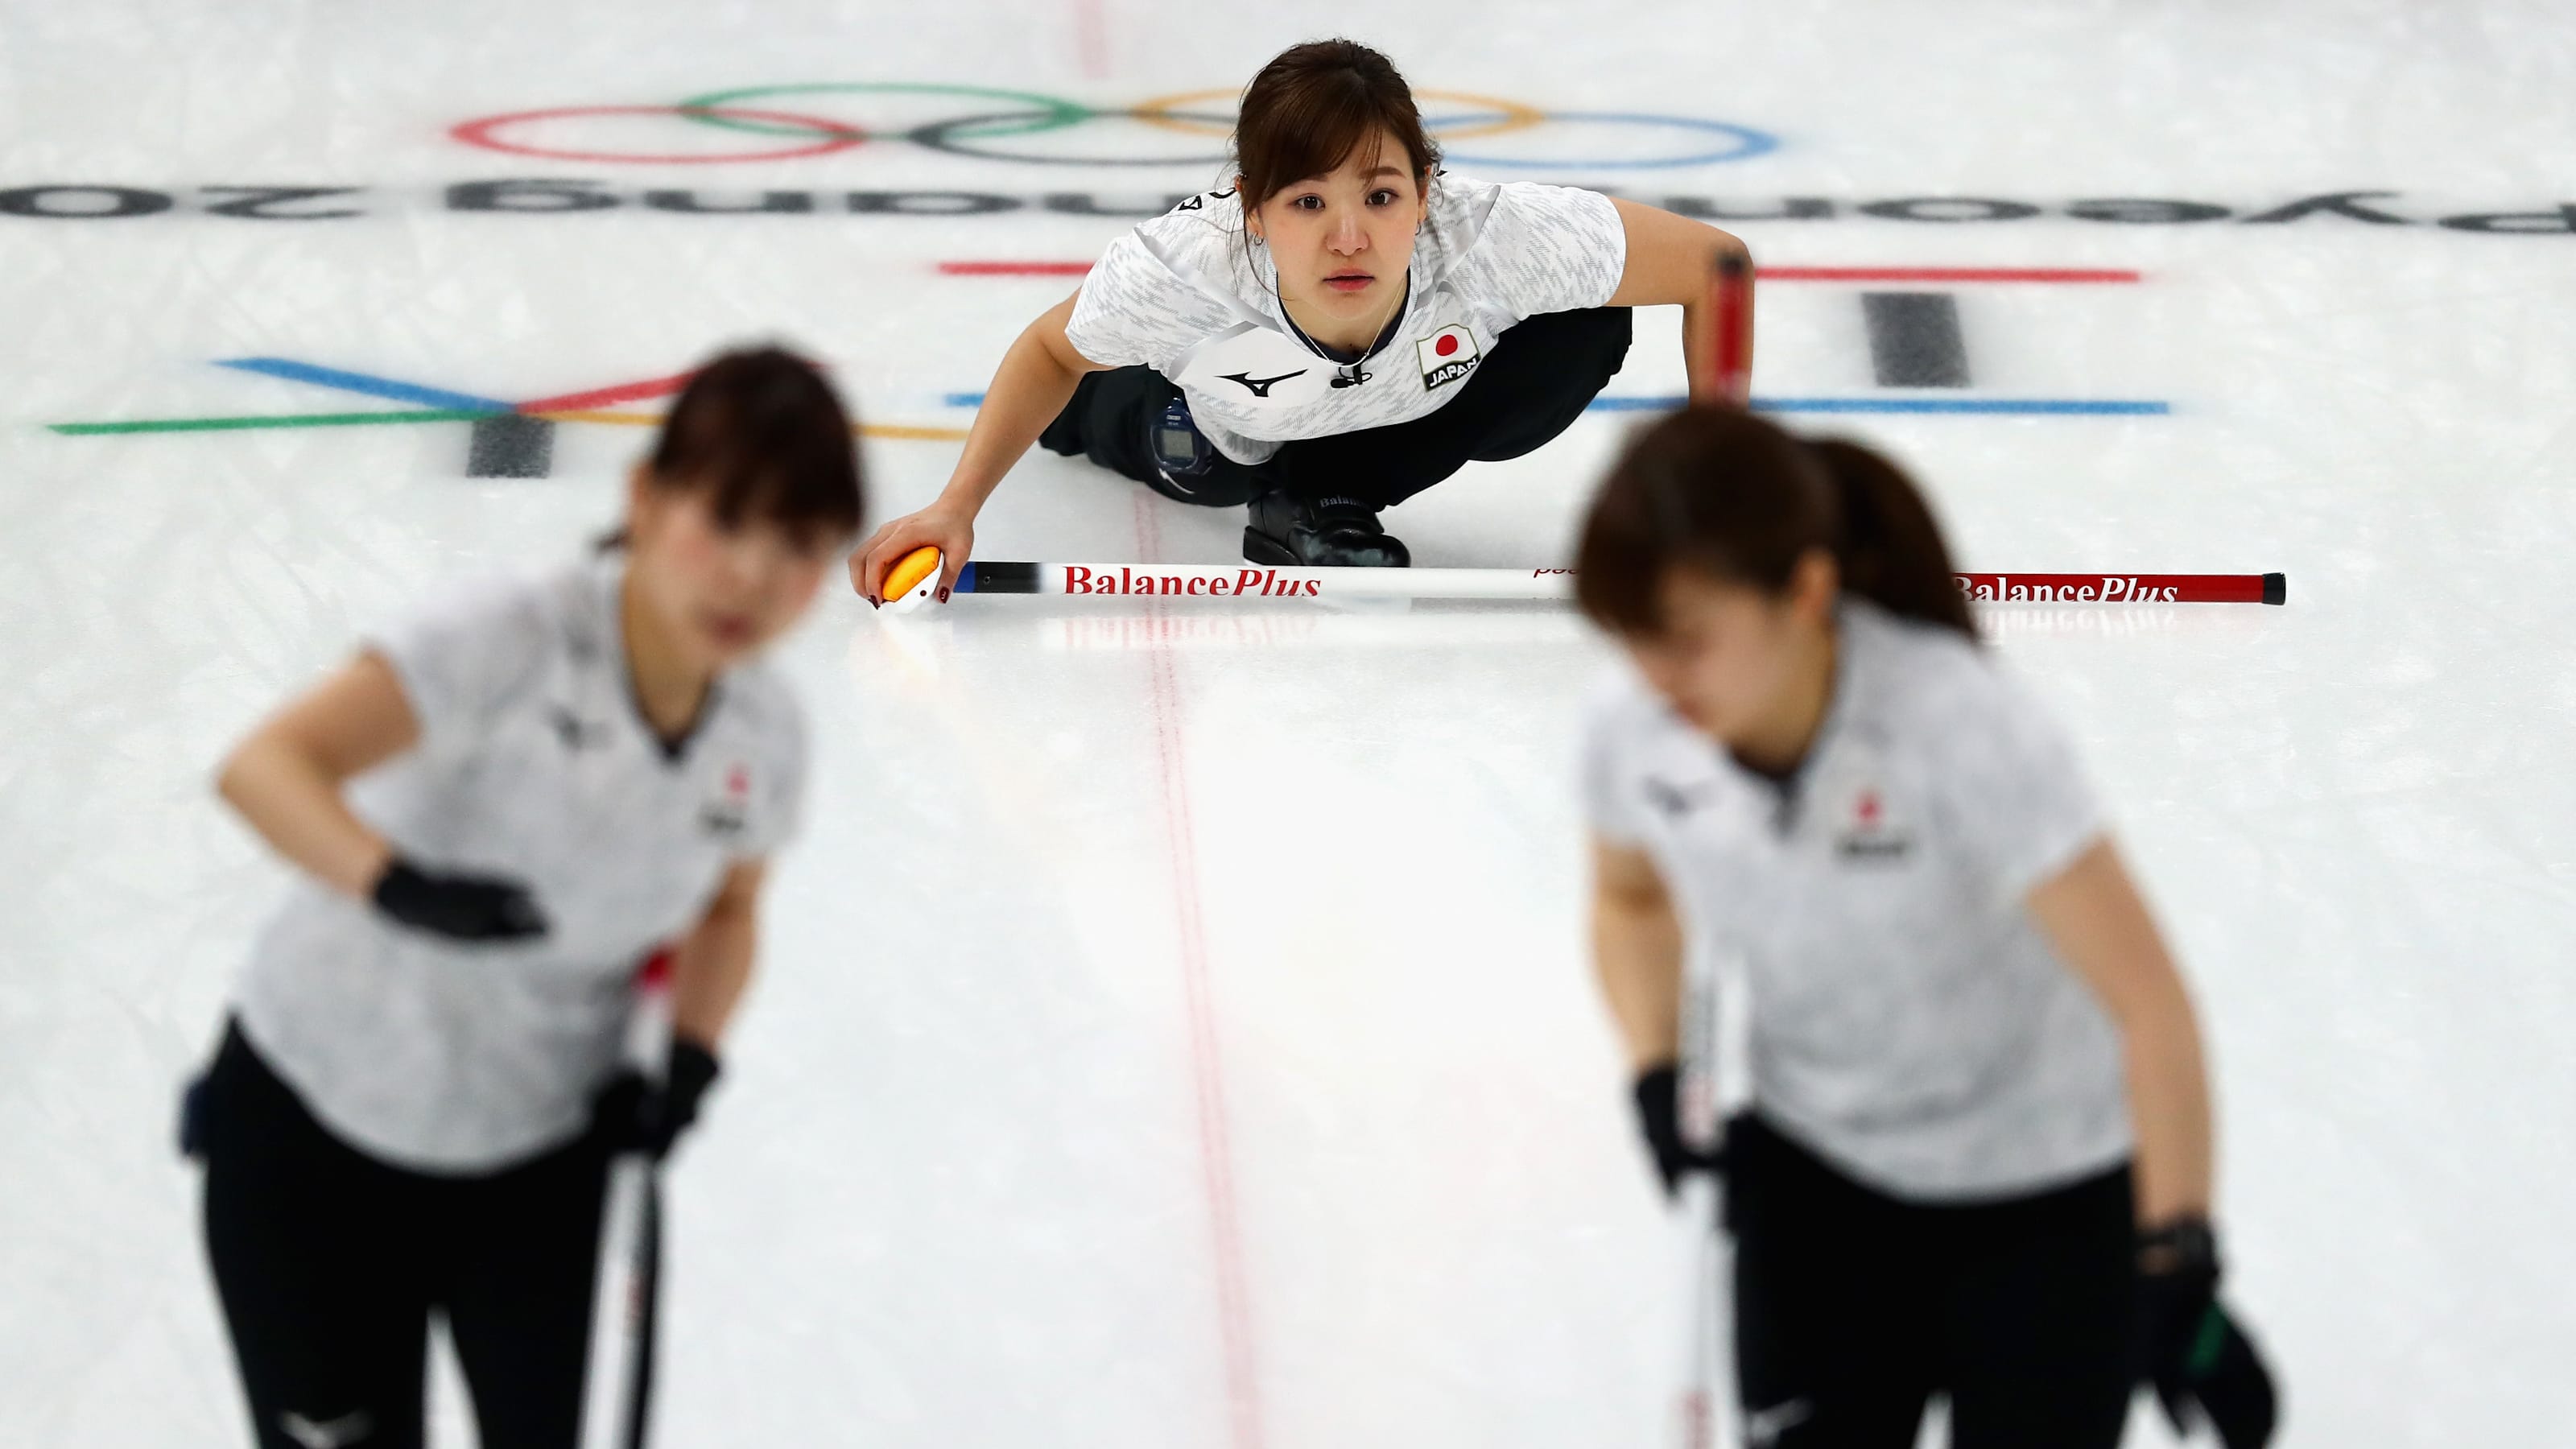
[{"label": "blurred left sweeper with gloved arm bent across her waist", "polygon": [[[598,557],[374,634],[224,763],[301,866],[191,1088],[206,1256],[265,1449],[417,1446],[430,1312],[487,1449],[567,1449],[603,1183],[716,1080],[804,717],[755,655],[860,523],[811,364],[677,397]],[[670,1067],[621,1073],[670,951]]]}]

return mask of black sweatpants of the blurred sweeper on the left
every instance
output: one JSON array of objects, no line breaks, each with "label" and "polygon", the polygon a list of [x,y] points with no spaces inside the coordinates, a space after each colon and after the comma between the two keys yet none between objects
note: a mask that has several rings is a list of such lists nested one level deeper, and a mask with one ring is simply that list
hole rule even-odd
[{"label": "black sweatpants of the blurred sweeper on the left", "polygon": [[428,1176],[332,1137],[227,1029],[201,1096],[206,1258],[260,1449],[417,1449],[430,1312],[482,1449],[572,1449],[608,1152]]}]

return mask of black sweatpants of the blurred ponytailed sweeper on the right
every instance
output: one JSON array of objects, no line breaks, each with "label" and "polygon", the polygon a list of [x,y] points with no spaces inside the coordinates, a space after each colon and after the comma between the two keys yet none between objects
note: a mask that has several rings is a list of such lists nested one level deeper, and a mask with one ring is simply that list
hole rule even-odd
[{"label": "black sweatpants of the blurred ponytailed sweeper on the right", "polygon": [[2107,1449],[2130,1400],[2130,1173],[1973,1207],[1870,1191],[1739,1116],[1736,1385],[1752,1449]]}]

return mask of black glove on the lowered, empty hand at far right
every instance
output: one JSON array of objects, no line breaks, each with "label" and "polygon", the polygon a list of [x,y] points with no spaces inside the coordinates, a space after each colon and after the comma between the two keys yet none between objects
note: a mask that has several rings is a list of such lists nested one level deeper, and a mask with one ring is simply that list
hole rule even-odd
[{"label": "black glove on the lowered, empty hand at far right", "polygon": [[2156,1385],[2174,1434],[2208,1418],[2226,1449],[2262,1449],[2280,1403],[2254,1341],[2218,1305],[2218,1235],[2182,1220],[2138,1238],[2138,1377]]}]

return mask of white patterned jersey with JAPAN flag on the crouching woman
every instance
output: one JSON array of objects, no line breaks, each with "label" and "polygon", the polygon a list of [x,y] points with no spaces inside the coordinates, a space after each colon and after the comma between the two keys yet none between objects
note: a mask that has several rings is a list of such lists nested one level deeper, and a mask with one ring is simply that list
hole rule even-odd
[{"label": "white patterned jersey with JAPAN flag on the crouching woman", "polygon": [[1443,173],[1404,309],[1386,345],[1345,369],[1296,335],[1270,250],[1244,242],[1234,193],[1211,191],[1110,242],[1064,335],[1095,364],[1164,374],[1218,451],[1257,464],[1291,438],[1440,410],[1504,330],[1540,312],[1602,307],[1625,266],[1628,232],[1607,196]]}]

